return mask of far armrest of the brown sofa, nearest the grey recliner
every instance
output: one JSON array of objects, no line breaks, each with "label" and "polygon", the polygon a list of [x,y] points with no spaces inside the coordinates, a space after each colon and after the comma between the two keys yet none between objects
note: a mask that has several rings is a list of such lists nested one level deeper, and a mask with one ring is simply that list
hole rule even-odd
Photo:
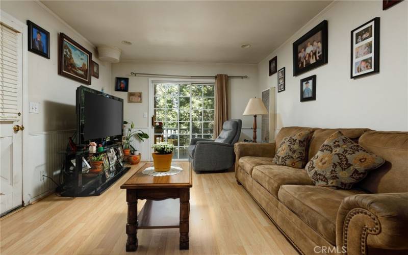
[{"label": "far armrest of the brown sofa, nearest the grey recliner", "polygon": [[235,151],[235,174],[237,174],[238,161],[242,157],[268,157],[275,156],[275,143],[244,143],[234,145]]}]

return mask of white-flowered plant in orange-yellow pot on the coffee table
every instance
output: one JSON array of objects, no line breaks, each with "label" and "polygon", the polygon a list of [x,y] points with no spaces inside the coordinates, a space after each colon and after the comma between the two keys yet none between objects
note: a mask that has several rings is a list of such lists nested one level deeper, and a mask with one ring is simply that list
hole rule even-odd
[{"label": "white-flowered plant in orange-yellow pot on the coffee table", "polygon": [[171,168],[171,159],[173,157],[174,145],[162,142],[156,143],[151,146],[155,152],[151,155],[153,157],[153,165],[155,166],[155,171],[167,172]]}]

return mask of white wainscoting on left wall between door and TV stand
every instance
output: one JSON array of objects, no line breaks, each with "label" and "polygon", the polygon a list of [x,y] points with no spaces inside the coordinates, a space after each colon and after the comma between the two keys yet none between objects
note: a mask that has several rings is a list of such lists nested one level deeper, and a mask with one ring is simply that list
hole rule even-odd
[{"label": "white wainscoting on left wall between door and TV stand", "polygon": [[65,155],[58,153],[66,149],[73,130],[29,134],[28,162],[23,165],[23,202],[28,205],[57,187],[47,175],[59,183]]}]

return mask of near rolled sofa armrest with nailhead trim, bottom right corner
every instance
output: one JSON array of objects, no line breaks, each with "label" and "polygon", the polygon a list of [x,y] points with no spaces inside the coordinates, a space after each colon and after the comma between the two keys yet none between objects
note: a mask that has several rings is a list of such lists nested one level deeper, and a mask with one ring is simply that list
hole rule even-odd
[{"label": "near rolled sofa armrest with nailhead trim, bottom right corner", "polygon": [[348,254],[367,247],[408,249],[408,193],[357,194],[343,199],[336,219],[336,244]]}]

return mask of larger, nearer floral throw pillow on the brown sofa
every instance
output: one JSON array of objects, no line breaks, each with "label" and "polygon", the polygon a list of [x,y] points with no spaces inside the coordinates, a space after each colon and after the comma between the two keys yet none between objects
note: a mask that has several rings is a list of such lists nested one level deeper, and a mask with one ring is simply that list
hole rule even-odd
[{"label": "larger, nearer floral throw pillow on the brown sofa", "polygon": [[384,162],[338,131],[324,141],[306,170],[316,186],[350,189]]}]

